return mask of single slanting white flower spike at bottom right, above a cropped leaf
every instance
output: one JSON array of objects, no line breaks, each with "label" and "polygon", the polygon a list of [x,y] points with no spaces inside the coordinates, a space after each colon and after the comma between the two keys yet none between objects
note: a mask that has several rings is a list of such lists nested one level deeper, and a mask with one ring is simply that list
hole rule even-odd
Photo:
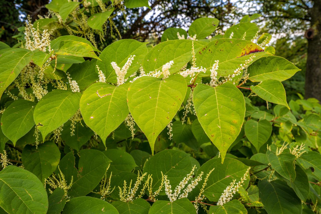
[{"label": "single slanting white flower spike at bottom right, above a cropped leaf", "polygon": [[238,183],[236,183],[236,180],[233,180],[230,183],[230,185],[228,187],[226,187],[226,189],[222,193],[222,195],[216,205],[223,205],[223,204],[229,202],[233,198],[234,194],[238,191],[239,187],[241,187],[242,184],[244,183],[244,181],[246,180],[246,177],[247,177],[250,169],[251,169],[251,167],[248,167],[247,171],[245,172],[245,174],[243,175],[243,177],[241,178],[241,180]]}]

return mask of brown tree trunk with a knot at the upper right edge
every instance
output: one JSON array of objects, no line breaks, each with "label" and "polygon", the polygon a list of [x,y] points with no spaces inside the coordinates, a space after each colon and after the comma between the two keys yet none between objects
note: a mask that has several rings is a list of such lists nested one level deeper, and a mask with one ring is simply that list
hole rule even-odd
[{"label": "brown tree trunk with a knot at the upper right edge", "polygon": [[315,0],[309,11],[311,28],[305,33],[308,39],[305,98],[314,97],[321,102],[321,0]]}]

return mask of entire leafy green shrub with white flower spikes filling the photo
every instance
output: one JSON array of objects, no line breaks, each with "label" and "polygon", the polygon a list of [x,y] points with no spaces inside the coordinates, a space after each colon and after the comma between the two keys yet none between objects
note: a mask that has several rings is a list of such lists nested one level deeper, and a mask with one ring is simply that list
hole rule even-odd
[{"label": "entire leafy green shrub with white flower spikes filling the photo", "polygon": [[21,46],[1,46],[4,212],[320,213],[321,106],[287,101],[300,69],[273,55],[258,14],[100,49],[123,8],[104,2],[52,0]]}]

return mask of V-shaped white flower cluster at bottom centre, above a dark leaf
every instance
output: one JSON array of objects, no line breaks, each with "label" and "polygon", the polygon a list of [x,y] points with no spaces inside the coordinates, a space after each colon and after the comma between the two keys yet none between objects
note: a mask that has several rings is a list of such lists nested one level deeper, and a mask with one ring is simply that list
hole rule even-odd
[{"label": "V-shaped white flower cluster at bottom centre, above a dark leaf", "polygon": [[[201,174],[197,176],[193,181],[191,181],[191,183],[188,184],[187,187],[185,188],[188,181],[193,178],[195,168],[196,166],[194,165],[194,167],[192,168],[192,171],[189,174],[187,174],[187,176],[184,177],[183,180],[176,186],[174,192],[171,189],[172,186],[170,185],[169,180],[167,179],[167,175],[162,174],[164,179],[164,185],[165,185],[165,193],[169,198],[169,201],[175,201],[180,198],[186,198],[188,193],[191,192],[196,187],[198,182],[202,180],[203,172],[201,172]],[[183,190],[183,193],[181,194],[180,192],[182,190]]]}]

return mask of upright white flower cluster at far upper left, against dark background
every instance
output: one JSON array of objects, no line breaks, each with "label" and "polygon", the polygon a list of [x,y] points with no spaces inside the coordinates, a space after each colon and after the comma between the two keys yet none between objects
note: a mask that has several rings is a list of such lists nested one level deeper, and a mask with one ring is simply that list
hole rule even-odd
[{"label": "upright white flower cluster at far upper left, against dark background", "polygon": [[48,31],[44,30],[40,35],[39,23],[38,23],[37,29],[35,29],[33,27],[33,24],[31,23],[30,17],[28,18],[28,22],[26,22],[24,35],[25,35],[24,39],[26,40],[26,43],[24,45],[25,49],[28,49],[28,50],[39,49],[43,52],[46,52],[48,47],[48,51],[49,52],[52,51],[50,47],[50,35]]}]

